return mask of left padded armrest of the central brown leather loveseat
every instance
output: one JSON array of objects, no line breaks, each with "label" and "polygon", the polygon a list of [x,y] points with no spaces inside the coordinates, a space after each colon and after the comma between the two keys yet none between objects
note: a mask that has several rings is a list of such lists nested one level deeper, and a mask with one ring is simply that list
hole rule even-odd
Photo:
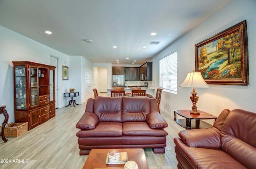
[{"label": "left padded armrest of the central brown leather loveseat", "polygon": [[81,119],[76,123],[76,128],[78,129],[95,129],[99,122],[99,118],[96,114],[92,112],[85,112]]}]

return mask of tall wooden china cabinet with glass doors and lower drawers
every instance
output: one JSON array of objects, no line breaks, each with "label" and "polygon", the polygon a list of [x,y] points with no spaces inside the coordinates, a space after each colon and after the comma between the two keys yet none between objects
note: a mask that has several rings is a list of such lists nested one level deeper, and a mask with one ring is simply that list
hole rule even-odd
[{"label": "tall wooden china cabinet with glass doors and lower drawers", "polygon": [[55,116],[55,66],[22,61],[14,68],[15,122],[28,130]]}]

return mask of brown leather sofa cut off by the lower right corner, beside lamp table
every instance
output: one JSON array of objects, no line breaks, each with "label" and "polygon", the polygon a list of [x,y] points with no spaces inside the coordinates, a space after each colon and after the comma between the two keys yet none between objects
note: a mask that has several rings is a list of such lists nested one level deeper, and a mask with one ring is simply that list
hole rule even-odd
[{"label": "brown leather sofa cut off by the lower right corner, beside lamp table", "polygon": [[256,113],[224,109],[213,127],[174,138],[179,169],[256,169]]}]

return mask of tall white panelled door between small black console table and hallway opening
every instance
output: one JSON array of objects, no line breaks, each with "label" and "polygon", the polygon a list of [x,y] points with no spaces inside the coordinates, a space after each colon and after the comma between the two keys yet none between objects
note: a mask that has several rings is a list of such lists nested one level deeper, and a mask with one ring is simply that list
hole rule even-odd
[{"label": "tall white panelled door between small black console table and hallway opening", "polygon": [[86,100],[92,97],[92,65],[85,66]]}]

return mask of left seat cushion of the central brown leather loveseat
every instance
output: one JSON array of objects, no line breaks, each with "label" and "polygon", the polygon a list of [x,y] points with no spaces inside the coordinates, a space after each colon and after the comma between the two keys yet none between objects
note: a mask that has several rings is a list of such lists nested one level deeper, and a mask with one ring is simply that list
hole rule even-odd
[{"label": "left seat cushion of the central brown leather loveseat", "polygon": [[81,130],[76,133],[77,137],[121,137],[122,123],[99,122],[95,129]]}]

